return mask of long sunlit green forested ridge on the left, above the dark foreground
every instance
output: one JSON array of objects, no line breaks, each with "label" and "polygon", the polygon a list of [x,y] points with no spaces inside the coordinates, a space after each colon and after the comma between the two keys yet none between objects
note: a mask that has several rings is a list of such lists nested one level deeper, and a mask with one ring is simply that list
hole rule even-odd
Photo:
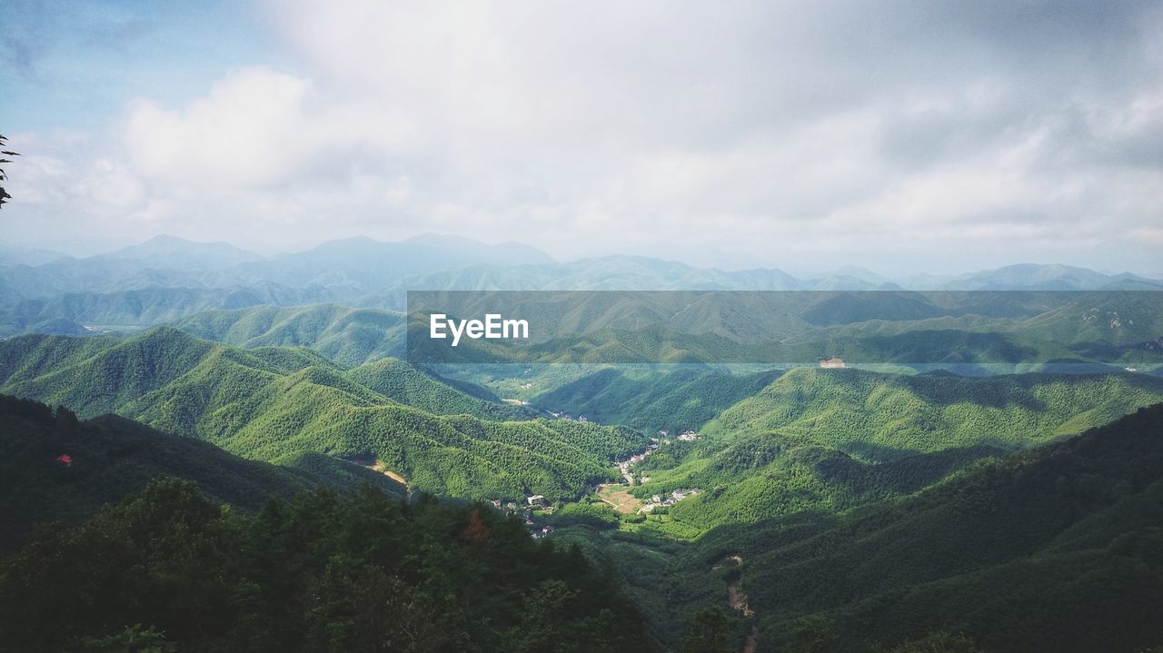
[{"label": "long sunlit green forested ridge on the left, above the dark foreground", "polygon": [[[238,350],[171,328],[100,344],[78,353],[63,337],[0,343],[0,357],[21,371],[0,392],[76,407],[81,417],[116,412],[258,460],[379,460],[418,489],[459,497],[575,496],[612,474],[607,460],[645,442],[595,424],[433,415],[305,350]],[[45,353],[57,346],[72,353]]]}]

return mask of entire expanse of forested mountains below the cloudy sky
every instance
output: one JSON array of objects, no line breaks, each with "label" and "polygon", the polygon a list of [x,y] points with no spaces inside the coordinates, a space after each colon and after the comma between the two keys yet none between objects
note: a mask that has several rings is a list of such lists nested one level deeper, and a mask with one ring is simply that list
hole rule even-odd
[{"label": "entire expanse of forested mountains below the cloudy sky", "polygon": [[[1157,281],[0,257],[0,652],[1163,644]],[[424,365],[409,289],[623,292],[536,294],[542,358]],[[793,292],[705,294],[745,289]]]}]

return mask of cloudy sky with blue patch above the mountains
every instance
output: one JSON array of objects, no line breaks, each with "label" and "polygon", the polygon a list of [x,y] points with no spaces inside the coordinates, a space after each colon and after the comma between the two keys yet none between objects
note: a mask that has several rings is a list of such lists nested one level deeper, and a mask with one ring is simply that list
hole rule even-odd
[{"label": "cloudy sky with blue patch above the mountains", "polygon": [[1163,2],[0,0],[0,244],[1163,277]]}]

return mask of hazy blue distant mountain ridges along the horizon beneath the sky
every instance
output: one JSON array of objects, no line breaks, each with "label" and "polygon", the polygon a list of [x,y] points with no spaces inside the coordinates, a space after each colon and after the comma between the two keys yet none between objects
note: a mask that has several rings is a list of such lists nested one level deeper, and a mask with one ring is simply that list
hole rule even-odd
[{"label": "hazy blue distant mountain ridges along the horizon beneath the sky", "polygon": [[158,236],[88,258],[0,250],[0,337],[140,329],[212,309],[337,303],[402,310],[423,290],[1027,290],[1158,289],[1163,281],[1066,265],[1019,264],[961,275],[891,279],[856,266],[794,277],[777,267],[723,271],[642,256],[557,263],[520,243],[422,235],[355,237],[261,257],[228,243]]}]

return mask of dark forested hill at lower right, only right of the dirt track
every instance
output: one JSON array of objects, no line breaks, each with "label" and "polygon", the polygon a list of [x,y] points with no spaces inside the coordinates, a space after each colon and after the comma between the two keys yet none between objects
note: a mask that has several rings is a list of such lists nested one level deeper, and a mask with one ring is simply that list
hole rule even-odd
[{"label": "dark forested hill at lower right, only right of the dirt track", "polygon": [[984,651],[1163,643],[1163,406],[840,516],[722,526],[763,650],[864,651],[942,630]]}]

